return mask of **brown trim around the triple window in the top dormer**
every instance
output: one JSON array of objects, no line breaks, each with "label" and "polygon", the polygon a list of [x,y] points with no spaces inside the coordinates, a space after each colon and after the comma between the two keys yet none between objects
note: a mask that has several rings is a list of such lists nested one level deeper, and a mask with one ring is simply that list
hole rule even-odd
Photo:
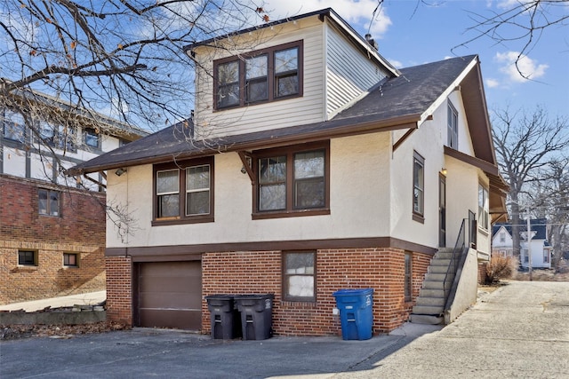
[{"label": "brown trim around the triple window in the top dormer", "polygon": [[[288,96],[276,96],[275,94],[275,51],[283,51],[287,49],[292,49],[294,47],[298,47],[299,55],[298,55],[298,76],[299,76],[299,91],[298,93],[294,93],[293,95]],[[247,102],[245,100],[245,59],[257,57],[263,54],[267,54],[268,56],[268,70],[267,70],[267,91],[268,91],[268,99],[259,100],[259,101],[252,101]],[[238,61],[239,62],[239,104],[235,106],[228,106],[228,107],[218,107],[218,99],[217,99],[217,88],[218,88],[218,66],[224,63]],[[239,56],[232,56],[223,59],[217,59],[213,61],[213,110],[214,111],[223,111],[226,109],[234,109],[238,107],[247,107],[256,104],[264,104],[273,101],[280,101],[285,99],[294,99],[294,98],[301,98],[303,96],[303,83],[304,83],[304,73],[303,73],[303,64],[304,62],[304,42],[302,40],[294,41],[291,43],[284,43],[279,44],[277,46],[271,46],[266,49],[257,50],[247,52],[245,54],[241,54]]]}]

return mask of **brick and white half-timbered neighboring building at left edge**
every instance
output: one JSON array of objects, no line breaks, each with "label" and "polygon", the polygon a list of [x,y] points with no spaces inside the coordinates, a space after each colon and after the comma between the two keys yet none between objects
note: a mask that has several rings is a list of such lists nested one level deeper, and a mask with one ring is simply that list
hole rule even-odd
[{"label": "brick and white half-timbered neighboring building at left edge", "polygon": [[25,100],[0,107],[0,304],[105,289],[104,176],[83,178],[86,192],[63,169],[148,134],[42,94]]}]

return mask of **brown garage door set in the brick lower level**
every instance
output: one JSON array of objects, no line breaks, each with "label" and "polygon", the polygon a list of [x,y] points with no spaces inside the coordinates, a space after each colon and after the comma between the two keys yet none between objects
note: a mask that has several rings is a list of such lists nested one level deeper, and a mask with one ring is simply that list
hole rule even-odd
[{"label": "brown garage door set in the brick lower level", "polygon": [[140,327],[201,328],[200,261],[140,263],[138,287]]}]

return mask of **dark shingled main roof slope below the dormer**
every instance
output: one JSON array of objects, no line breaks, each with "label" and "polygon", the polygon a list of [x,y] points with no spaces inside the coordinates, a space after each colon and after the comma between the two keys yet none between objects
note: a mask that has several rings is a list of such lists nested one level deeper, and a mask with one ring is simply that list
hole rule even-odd
[{"label": "dark shingled main roof slope below the dormer", "polygon": [[68,173],[80,175],[140,164],[171,162],[172,159],[286,145],[295,141],[417,127],[421,116],[475,59],[476,55],[469,55],[401,69],[401,75],[378,83],[364,99],[336,114],[330,121],[207,140],[189,138],[191,120],[179,122],[80,163]]}]

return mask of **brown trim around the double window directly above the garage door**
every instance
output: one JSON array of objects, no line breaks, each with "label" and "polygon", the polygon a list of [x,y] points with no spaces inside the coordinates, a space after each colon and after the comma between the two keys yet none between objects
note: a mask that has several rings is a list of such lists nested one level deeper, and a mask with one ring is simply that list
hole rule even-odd
[{"label": "brown trim around the double window directly above the garage door", "polygon": [[[214,203],[213,199],[214,196],[214,159],[212,156],[199,158],[199,159],[192,159],[188,161],[181,161],[181,162],[169,162],[169,163],[162,163],[154,165],[153,172],[152,172],[152,226],[161,226],[161,225],[181,225],[181,224],[199,224],[199,223],[211,223],[215,221],[215,217],[213,214],[214,210]],[[209,164],[210,166],[210,213],[207,215],[195,215],[195,216],[185,216],[186,214],[186,168],[193,167],[193,166],[200,166],[204,164]],[[156,217],[157,206],[156,206],[156,172],[162,170],[172,170],[178,169],[180,175],[180,209],[178,216],[175,217]]]}]

